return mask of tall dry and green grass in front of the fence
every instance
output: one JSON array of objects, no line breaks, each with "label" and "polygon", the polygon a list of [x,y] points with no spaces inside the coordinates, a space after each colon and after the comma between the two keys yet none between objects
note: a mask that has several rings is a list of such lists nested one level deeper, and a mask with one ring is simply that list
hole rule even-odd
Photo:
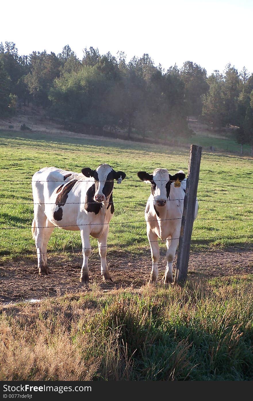
[{"label": "tall dry and green grass in front of the fence", "polygon": [[3,307],[0,380],[252,380],[252,277]]}]

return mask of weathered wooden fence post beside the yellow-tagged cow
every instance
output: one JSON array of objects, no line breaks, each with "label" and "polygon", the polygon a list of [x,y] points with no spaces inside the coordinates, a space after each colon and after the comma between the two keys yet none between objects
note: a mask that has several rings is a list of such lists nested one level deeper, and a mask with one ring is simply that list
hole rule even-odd
[{"label": "weathered wooden fence post beside the yellow-tagged cow", "polygon": [[201,150],[201,146],[191,145],[174,284],[184,284],[187,279]]}]

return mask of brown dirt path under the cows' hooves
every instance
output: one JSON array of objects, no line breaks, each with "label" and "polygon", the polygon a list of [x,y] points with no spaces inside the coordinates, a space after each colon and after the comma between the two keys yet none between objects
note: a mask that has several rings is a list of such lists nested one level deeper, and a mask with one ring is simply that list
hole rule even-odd
[{"label": "brown dirt path under the cows' hooves", "polygon": [[[100,275],[100,259],[92,255],[89,259],[90,285],[79,283],[82,256],[66,261],[64,257],[49,257],[52,274],[40,277],[36,260],[19,258],[0,263],[0,302],[42,299],[63,295],[68,292],[88,291],[92,286],[108,291],[114,288],[141,287],[151,271],[151,257],[108,257],[112,282],[103,282]],[[175,266],[175,262],[174,262]],[[161,253],[159,263],[159,282],[165,269],[165,255]],[[253,251],[209,251],[191,253],[188,278],[194,275],[221,277],[253,273]]]}]

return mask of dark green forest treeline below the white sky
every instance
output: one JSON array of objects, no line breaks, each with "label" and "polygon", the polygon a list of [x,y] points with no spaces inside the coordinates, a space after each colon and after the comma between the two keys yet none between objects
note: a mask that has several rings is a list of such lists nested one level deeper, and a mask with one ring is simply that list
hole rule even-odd
[{"label": "dark green forest treeline below the white sky", "polygon": [[62,53],[18,55],[15,43],[0,44],[0,116],[20,105],[42,106],[49,117],[103,130],[133,130],[145,138],[191,135],[187,117],[213,129],[233,125],[240,144],[253,146],[253,74],[227,65],[207,76],[186,61],[166,72],[144,54],[128,63],[124,52],[100,55],[84,49],[82,60],[69,45]]}]

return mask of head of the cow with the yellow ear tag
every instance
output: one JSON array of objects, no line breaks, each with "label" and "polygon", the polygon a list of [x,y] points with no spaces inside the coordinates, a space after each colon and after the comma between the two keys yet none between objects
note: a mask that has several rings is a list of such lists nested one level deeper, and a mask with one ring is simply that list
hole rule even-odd
[{"label": "head of the cow with the yellow ear tag", "polygon": [[185,174],[182,170],[172,176],[166,168],[156,168],[153,171],[153,174],[139,171],[137,172],[137,176],[140,180],[151,184],[151,194],[154,198],[154,205],[157,207],[163,207],[166,205],[166,202],[169,199],[171,183],[185,178]]}]

